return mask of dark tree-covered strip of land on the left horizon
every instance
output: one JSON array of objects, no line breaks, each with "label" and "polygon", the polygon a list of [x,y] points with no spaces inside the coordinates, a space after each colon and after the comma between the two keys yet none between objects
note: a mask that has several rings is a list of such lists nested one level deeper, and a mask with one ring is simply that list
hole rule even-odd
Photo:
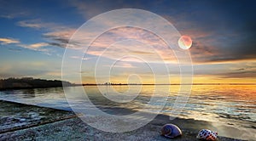
[{"label": "dark tree-covered strip of land on the left horizon", "polygon": [[44,80],[44,79],[34,79],[32,77],[24,77],[24,78],[8,78],[8,79],[0,80],[0,90],[62,87],[62,83],[65,86],[76,86],[71,82],[65,82],[60,80]]}]

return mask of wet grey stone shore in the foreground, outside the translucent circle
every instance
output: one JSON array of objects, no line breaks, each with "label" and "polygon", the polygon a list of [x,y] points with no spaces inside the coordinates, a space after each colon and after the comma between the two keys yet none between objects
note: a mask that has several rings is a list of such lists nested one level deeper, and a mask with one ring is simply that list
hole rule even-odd
[{"label": "wet grey stone shore in the foreground, outside the translucent circle", "polygon": [[[166,123],[176,124],[183,136],[173,140],[197,140],[201,128],[218,131],[207,121],[159,115],[146,126],[126,133],[107,133],[88,126],[71,111],[0,101],[0,140],[170,140],[160,136]],[[222,130],[230,130],[222,127]],[[232,131],[232,130],[230,130]],[[236,130],[235,130],[236,131]],[[238,140],[218,137],[218,140]]]}]

